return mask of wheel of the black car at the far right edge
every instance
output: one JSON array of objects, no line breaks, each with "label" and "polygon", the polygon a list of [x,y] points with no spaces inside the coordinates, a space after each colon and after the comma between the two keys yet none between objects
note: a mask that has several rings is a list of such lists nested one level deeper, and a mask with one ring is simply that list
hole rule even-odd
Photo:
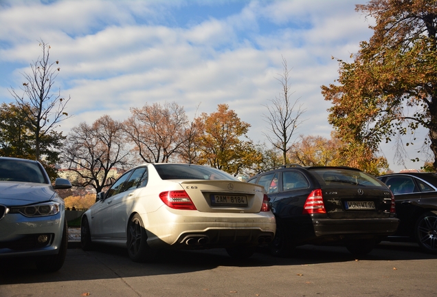
[{"label": "wheel of the black car at the far right edge", "polygon": [[426,212],[419,217],[414,230],[421,250],[437,254],[437,211]]}]

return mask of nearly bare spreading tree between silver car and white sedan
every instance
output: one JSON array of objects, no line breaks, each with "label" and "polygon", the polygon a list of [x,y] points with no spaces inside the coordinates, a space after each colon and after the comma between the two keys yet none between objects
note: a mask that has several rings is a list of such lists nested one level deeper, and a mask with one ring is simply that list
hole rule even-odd
[{"label": "nearly bare spreading tree between silver car and white sedan", "polygon": [[82,122],[71,129],[63,162],[78,176],[71,181],[73,186],[91,186],[101,192],[113,182],[110,171],[129,164],[128,155],[122,123],[103,115],[91,125]]}]

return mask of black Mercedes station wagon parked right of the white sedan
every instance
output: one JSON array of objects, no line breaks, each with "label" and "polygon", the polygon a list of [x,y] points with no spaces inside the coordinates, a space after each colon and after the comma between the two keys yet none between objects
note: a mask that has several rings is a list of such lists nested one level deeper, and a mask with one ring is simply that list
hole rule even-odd
[{"label": "black Mercedes station wagon parked right of the white sedan", "polygon": [[281,166],[249,182],[269,196],[277,224],[269,248],[276,256],[304,244],[345,245],[352,254],[367,254],[399,224],[388,187],[355,168]]}]

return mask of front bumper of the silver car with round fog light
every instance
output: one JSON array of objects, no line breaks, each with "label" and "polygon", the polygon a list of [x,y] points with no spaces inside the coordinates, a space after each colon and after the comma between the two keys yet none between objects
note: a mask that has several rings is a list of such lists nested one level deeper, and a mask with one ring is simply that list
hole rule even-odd
[{"label": "front bumper of the silver car with round fog light", "polygon": [[[58,254],[64,217],[24,217],[7,214],[0,220],[0,258]],[[47,241],[41,241],[47,239]]]}]

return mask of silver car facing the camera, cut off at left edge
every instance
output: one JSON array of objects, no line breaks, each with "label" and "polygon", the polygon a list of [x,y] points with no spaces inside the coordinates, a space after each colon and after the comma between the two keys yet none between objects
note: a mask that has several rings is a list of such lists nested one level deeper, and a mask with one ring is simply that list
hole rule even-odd
[{"label": "silver car facing the camera, cut off at left edge", "polygon": [[29,257],[43,272],[63,266],[65,204],[54,190],[65,188],[71,188],[67,179],[52,186],[37,161],[0,157],[0,259]]}]

